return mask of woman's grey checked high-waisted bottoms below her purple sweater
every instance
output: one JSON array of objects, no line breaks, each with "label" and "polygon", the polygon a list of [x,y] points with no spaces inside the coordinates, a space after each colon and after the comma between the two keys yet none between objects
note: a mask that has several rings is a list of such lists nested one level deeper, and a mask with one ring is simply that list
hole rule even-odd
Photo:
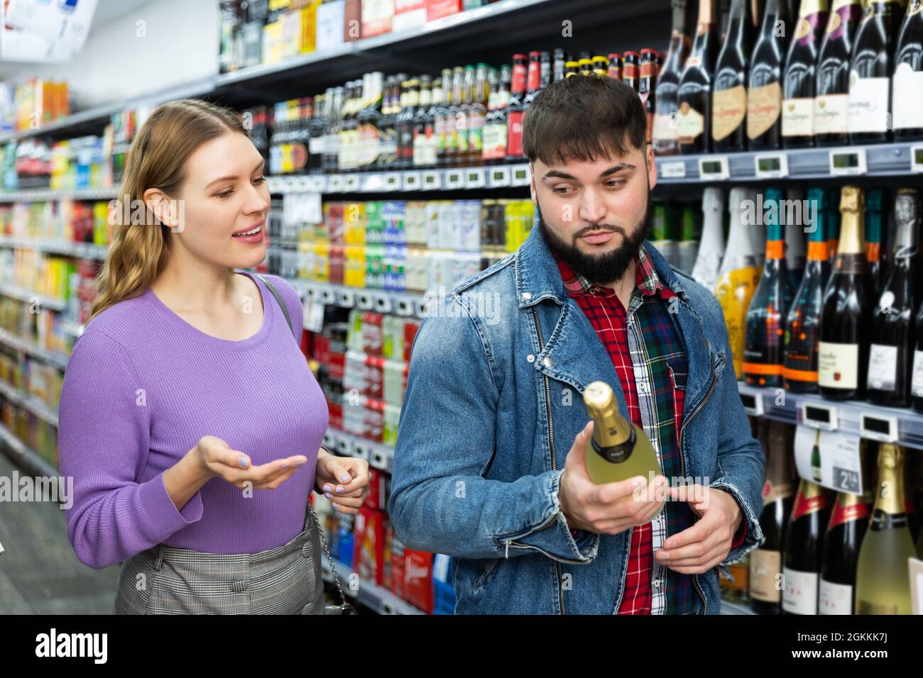
[{"label": "woman's grey checked high-waisted bottoms below her purple sweater", "polygon": [[259,553],[158,544],[122,565],[115,614],[323,614],[318,529]]}]

